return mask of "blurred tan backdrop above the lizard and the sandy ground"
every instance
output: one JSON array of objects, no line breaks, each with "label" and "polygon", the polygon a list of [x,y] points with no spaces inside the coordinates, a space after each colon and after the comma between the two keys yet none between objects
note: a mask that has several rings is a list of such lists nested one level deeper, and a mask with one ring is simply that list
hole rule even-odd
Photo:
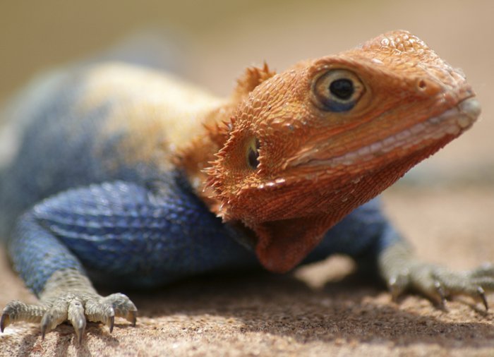
[{"label": "blurred tan backdrop above the lizard and the sandy ground", "polygon": [[[421,171],[494,181],[494,1],[4,1],[0,101],[48,68],[100,54],[171,68],[219,95],[251,64],[283,70],[300,59],[406,29],[464,69],[481,122]],[[104,55],[102,55],[104,54]],[[454,171],[454,172],[453,172]],[[415,177],[415,178],[414,178]]]}]

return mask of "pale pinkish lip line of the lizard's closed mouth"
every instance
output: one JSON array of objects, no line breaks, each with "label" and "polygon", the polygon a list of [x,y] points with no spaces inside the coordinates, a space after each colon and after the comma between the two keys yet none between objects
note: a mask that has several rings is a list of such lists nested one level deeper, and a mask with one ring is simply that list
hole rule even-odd
[{"label": "pale pinkish lip line of the lizard's closed mouth", "polygon": [[313,152],[306,152],[289,163],[291,167],[344,167],[356,162],[369,162],[376,157],[385,156],[389,152],[410,152],[418,145],[437,142],[445,136],[457,137],[470,128],[481,113],[481,106],[476,97],[469,97],[455,107],[443,111],[438,116],[414,124],[404,131],[394,133],[382,140],[360,147],[358,150],[343,155],[320,158]]}]

